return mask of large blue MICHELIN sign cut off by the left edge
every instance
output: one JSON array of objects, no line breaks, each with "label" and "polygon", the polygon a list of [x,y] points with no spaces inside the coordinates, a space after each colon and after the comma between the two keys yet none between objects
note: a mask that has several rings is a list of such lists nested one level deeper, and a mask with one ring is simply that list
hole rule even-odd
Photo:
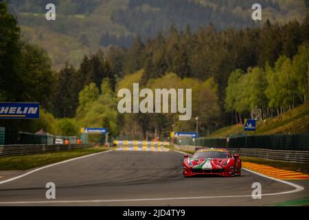
[{"label": "large blue MICHELIN sign cut off by the left edge", "polygon": [[40,104],[0,102],[0,119],[38,119],[40,117]]}]

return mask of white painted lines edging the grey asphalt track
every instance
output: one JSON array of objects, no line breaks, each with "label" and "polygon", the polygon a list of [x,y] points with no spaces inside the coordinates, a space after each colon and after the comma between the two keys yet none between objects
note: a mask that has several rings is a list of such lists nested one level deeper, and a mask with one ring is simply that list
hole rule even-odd
[{"label": "white painted lines edging the grey asphalt track", "polygon": [[[111,150],[113,151],[113,150]],[[101,152],[101,153],[107,153],[107,152],[110,152],[110,151],[104,151],[104,152]],[[190,153],[185,153],[185,152],[182,152],[182,151],[176,151],[178,153],[182,153],[182,154],[189,154]],[[21,175],[19,177],[14,177],[12,179],[8,179],[6,181],[2,181],[0,182],[0,184],[3,184],[4,182],[8,182],[8,181],[13,181],[15,179],[19,179],[21,177],[25,177],[25,175],[30,175],[31,173],[34,173],[38,170],[43,170],[44,168],[48,168],[50,166],[56,166],[58,164],[64,164],[66,162],[70,162],[70,161],[73,161],[73,160],[76,160],[76,159],[81,159],[81,158],[84,158],[84,157],[91,157],[93,155],[98,155],[98,154],[101,154],[101,153],[96,153],[96,154],[92,154],[92,155],[87,155],[87,156],[83,156],[83,157],[77,157],[77,158],[74,158],[74,159],[69,159],[69,160],[66,160],[64,162],[60,162],[60,163],[57,163],[57,164],[52,164],[52,165],[49,165],[49,166],[44,166],[42,168],[38,168],[36,170],[32,170],[30,171],[29,173],[25,173],[24,175]],[[290,193],[295,193],[295,192],[300,192],[302,190],[304,190],[304,187],[302,186],[299,186],[297,184],[293,184],[293,183],[290,183],[288,181],[284,181],[284,180],[281,180],[281,179],[275,179],[273,177],[268,177],[266,175],[262,175],[260,173],[256,173],[252,170],[249,170],[249,169],[246,169],[246,168],[242,168],[250,173],[253,173],[255,175],[259,175],[261,177],[264,177],[264,178],[267,178],[267,179],[271,179],[273,181],[278,181],[282,184],[287,184],[289,186],[293,186],[295,189],[294,190],[290,190],[290,191],[285,191],[285,192],[275,192],[275,193],[266,193],[266,194],[262,194],[261,196],[262,197],[265,197],[265,196],[275,196],[275,195],[284,195],[284,194],[290,194]],[[52,203],[106,203],[106,202],[128,202],[128,201],[167,201],[167,200],[190,200],[190,199],[220,199],[220,198],[240,198],[240,197],[252,197],[252,195],[222,195],[222,196],[211,196],[211,197],[171,197],[171,198],[150,198],[150,199],[96,199],[96,200],[59,200],[59,201],[3,201],[3,202],[0,202],[0,205],[23,205],[23,204],[52,204]]]}]

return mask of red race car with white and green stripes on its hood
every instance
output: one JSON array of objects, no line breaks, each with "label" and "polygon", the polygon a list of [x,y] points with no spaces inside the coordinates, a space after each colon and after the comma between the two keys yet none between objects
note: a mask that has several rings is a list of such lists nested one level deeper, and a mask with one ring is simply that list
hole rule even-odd
[{"label": "red race car with white and green stripes on its hood", "polygon": [[233,177],[241,175],[240,155],[231,155],[224,148],[198,148],[192,157],[185,155],[183,175],[220,175]]}]

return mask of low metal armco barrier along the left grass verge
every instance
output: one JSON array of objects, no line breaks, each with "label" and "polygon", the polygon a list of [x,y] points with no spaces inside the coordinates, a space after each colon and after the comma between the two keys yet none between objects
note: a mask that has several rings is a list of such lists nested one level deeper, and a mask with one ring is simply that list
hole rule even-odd
[{"label": "low metal armco barrier along the left grass verge", "polygon": [[56,152],[56,151],[68,151],[71,149],[90,148],[93,146],[95,146],[95,144],[5,145],[5,146],[0,146],[0,157],[32,155],[32,154],[50,153],[50,152]]}]

